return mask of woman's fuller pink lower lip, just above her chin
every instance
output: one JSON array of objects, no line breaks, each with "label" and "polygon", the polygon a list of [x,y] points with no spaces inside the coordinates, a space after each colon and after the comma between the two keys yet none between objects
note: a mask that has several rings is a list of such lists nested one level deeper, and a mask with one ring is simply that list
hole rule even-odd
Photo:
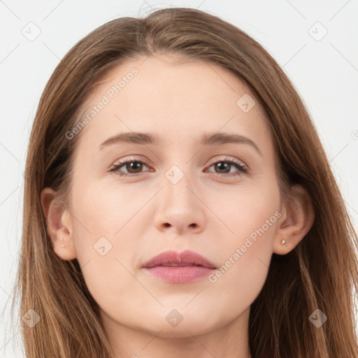
[{"label": "woman's fuller pink lower lip, just above her chin", "polygon": [[172,283],[198,280],[214,271],[213,268],[203,266],[155,266],[145,270],[157,278]]}]

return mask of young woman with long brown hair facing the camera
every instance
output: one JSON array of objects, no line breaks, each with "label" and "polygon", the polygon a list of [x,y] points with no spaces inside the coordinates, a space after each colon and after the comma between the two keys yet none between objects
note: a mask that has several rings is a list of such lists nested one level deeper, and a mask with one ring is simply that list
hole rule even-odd
[{"label": "young woman with long brown hair facing the camera", "polygon": [[29,141],[27,357],[357,358],[357,234],[299,94],[190,8],[62,59]]}]

